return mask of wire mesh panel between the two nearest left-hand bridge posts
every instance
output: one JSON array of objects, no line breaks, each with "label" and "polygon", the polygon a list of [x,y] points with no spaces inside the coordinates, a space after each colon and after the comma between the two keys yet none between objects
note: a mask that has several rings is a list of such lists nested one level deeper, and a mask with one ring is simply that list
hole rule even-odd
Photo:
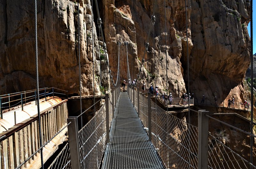
[{"label": "wire mesh panel between the two nearest left-hand bridge posts", "polygon": [[106,146],[106,104],[78,132],[82,168],[99,168]]}]

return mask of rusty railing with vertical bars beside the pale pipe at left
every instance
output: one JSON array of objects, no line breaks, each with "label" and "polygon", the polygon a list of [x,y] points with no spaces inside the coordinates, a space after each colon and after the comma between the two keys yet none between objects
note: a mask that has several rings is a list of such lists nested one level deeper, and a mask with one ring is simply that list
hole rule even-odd
[{"label": "rusty railing with vertical bars beside the pale pipe at left", "polygon": [[[68,108],[67,99],[59,104],[41,112],[41,127],[43,135],[43,144],[48,143],[56,133],[58,133],[65,125],[67,125]],[[63,131],[63,135],[67,132]],[[13,126],[0,136],[0,161],[1,168],[17,168],[20,164],[22,167],[31,165],[36,158],[40,159],[39,155],[39,132],[38,132],[38,117],[37,115]],[[63,138],[57,138],[63,140]],[[56,141],[56,140],[55,140]],[[61,141],[60,141],[61,142]],[[56,141],[56,143],[58,143]],[[56,144],[54,143],[54,144]],[[47,147],[50,152],[58,146]],[[30,157],[33,155],[32,157]],[[45,156],[46,161],[50,155]],[[28,160],[27,160],[28,159]],[[24,162],[25,161],[25,162]],[[38,160],[40,161],[40,160]],[[35,163],[33,163],[35,164]]]}]

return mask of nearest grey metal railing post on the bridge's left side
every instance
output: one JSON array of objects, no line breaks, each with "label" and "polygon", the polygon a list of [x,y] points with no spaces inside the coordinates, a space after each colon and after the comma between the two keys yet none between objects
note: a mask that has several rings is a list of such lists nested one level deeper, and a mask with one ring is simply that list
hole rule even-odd
[{"label": "nearest grey metal railing post on the bridge's left side", "polygon": [[71,166],[72,168],[81,169],[77,117],[69,117],[67,121],[68,123],[71,122],[68,125]]}]

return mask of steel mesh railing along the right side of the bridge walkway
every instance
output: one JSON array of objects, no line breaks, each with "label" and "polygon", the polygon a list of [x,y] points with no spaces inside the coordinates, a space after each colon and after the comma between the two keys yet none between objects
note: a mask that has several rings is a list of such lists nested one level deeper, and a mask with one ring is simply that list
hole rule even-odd
[{"label": "steel mesh railing along the right side of the bridge walkway", "polygon": [[[135,100],[138,102],[137,93]],[[166,168],[198,168],[198,127],[168,114],[151,101],[152,143]],[[138,103],[135,103],[138,111]],[[140,94],[140,119],[148,129],[148,98]],[[249,137],[248,137],[249,139]],[[218,137],[208,136],[208,168],[256,168],[234,148],[229,148]]]}]

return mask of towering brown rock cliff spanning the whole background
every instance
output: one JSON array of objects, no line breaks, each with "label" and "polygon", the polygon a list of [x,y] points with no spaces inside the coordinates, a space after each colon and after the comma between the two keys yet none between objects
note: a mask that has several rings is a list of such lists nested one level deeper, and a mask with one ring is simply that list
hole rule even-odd
[{"label": "towering brown rock cliff spanning the whole background", "polygon": [[[77,26],[75,0],[42,1],[38,4],[38,56],[41,87],[54,86],[69,93],[79,93]],[[245,71],[250,62],[249,0],[187,0],[190,93],[199,100],[204,94],[213,104],[227,97],[243,102]],[[33,2],[28,4],[1,0],[0,13],[0,92],[35,88],[35,49]],[[120,77],[127,80],[125,41],[131,78],[137,79],[144,56],[154,2],[149,0],[98,1],[110,68],[116,80],[118,46]],[[94,4],[95,6],[95,4]],[[165,57],[165,21],[167,37],[167,72]],[[96,23],[96,9],[93,8]],[[92,36],[95,51],[95,86],[99,93],[100,57],[95,24],[91,24],[91,2],[80,1],[80,54],[82,95],[93,93]],[[156,22],[149,36],[141,82],[159,86],[174,97],[188,89],[185,1],[158,0]],[[97,25],[97,23],[96,23]],[[92,27],[94,34],[92,35]],[[154,35],[154,36],[153,36]],[[102,43],[101,43],[102,45]],[[155,52],[154,52],[155,48]],[[103,62],[104,63],[104,62]],[[104,67],[104,64],[101,64]],[[107,72],[107,70],[106,70]],[[105,72],[107,86],[108,76]],[[104,79],[105,79],[104,77]],[[231,92],[230,92],[231,91]]]}]

